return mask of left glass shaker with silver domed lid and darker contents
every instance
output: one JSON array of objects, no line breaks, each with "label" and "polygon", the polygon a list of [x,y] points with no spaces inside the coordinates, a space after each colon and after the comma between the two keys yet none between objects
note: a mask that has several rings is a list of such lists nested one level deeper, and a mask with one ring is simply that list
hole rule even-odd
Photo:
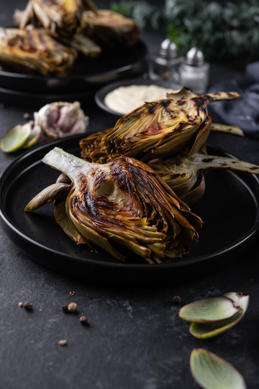
[{"label": "left glass shaker with silver domed lid and darker contents", "polygon": [[183,60],[184,57],[177,54],[176,44],[168,38],[163,40],[158,56],[149,61],[149,78],[179,83],[178,67]]}]

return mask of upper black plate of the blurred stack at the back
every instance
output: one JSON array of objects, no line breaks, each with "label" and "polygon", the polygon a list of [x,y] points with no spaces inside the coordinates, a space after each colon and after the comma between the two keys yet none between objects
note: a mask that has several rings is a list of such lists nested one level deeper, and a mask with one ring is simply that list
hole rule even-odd
[{"label": "upper black plate of the blurred stack at the back", "polygon": [[0,88],[40,94],[96,91],[108,82],[142,74],[146,68],[146,54],[146,45],[141,40],[133,47],[103,51],[96,58],[79,54],[68,77],[27,75],[3,68]]}]

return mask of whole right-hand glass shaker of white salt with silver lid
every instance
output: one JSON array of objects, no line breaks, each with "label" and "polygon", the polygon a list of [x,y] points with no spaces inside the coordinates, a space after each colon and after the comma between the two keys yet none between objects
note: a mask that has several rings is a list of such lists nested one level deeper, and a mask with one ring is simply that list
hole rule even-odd
[{"label": "whole right-hand glass shaker of white salt with silver lid", "polygon": [[205,93],[209,82],[209,63],[204,61],[202,51],[192,47],[179,66],[180,82],[198,95]]}]

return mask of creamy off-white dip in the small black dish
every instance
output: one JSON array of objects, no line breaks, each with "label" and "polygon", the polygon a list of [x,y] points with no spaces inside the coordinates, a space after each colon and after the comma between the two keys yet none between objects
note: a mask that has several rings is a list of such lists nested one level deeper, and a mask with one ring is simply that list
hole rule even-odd
[{"label": "creamy off-white dip in the small black dish", "polygon": [[168,92],[172,92],[172,89],[157,85],[120,86],[105,96],[104,103],[118,114],[126,115],[144,102],[166,98]]}]

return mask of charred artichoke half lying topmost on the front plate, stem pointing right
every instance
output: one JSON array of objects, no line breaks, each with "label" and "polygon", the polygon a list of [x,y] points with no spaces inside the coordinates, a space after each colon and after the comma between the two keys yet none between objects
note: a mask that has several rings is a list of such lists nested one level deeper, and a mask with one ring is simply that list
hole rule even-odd
[{"label": "charred artichoke half lying topmost on the front plate, stem pointing right", "polygon": [[191,149],[191,154],[197,152],[210,132],[208,103],[233,100],[240,95],[236,92],[193,95],[183,89],[169,95],[173,98],[145,103],[123,116],[114,131],[104,135],[104,150],[110,158],[123,154],[142,160],[178,154],[185,149]]}]

